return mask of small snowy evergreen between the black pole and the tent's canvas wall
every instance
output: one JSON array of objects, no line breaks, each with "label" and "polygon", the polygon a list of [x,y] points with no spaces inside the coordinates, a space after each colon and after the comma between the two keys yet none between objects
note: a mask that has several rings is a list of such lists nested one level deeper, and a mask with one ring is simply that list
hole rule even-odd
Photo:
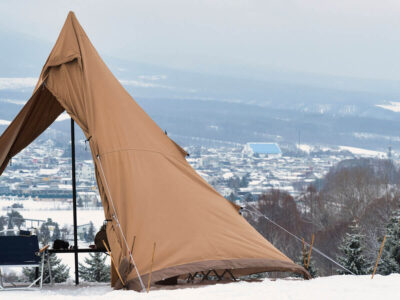
[{"label": "small snowy evergreen between the black pole and the tent's canvas wall", "polygon": [[79,263],[79,275],[90,282],[110,281],[110,266],[105,264],[107,256],[100,252],[89,253],[85,264]]}]

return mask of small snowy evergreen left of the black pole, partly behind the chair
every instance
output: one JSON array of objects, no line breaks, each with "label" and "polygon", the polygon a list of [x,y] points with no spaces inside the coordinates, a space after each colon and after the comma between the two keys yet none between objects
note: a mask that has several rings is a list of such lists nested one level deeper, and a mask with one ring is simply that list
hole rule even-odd
[{"label": "small snowy evergreen left of the black pole, partly behind the chair", "polygon": [[[43,259],[43,257],[42,257]],[[61,259],[57,258],[57,256],[53,253],[50,255],[46,255],[46,259],[44,262],[44,274],[43,279],[46,279],[49,276],[49,270],[47,269],[47,260],[50,259],[50,269],[51,275],[55,283],[61,283],[67,281],[69,277],[69,267],[61,263]],[[24,268],[22,270],[24,275],[30,280],[35,280],[35,268]],[[41,268],[39,268],[39,275],[41,272]],[[50,277],[47,278],[44,283],[50,283]]]}]

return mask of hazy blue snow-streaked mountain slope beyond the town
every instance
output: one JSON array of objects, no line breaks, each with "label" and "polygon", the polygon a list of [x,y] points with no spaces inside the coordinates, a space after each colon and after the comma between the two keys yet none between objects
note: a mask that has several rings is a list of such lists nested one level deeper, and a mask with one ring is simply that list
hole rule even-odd
[{"label": "hazy blue snow-streaked mountain slope beyond the town", "polygon": [[[29,99],[51,45],[1,31],[0,39],[8,41],[0,58],[3,131]],[[297,143],[300,137],[310,144],[400,147],[400,113],[389,109],[400,99],[395,82],[245,68],[206,73],[104,59],[160,127],[176,135],[239,143]],[[66,122],[54,126],[68,130]]]}]

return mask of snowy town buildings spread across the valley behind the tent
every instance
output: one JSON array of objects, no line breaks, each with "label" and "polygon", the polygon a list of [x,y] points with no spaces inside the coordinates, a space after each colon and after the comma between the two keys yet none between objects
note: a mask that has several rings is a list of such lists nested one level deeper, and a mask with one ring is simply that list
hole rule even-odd
[{"label": "snowy town buildings spread across the valley behind the tent", "polygon": [[[319,182],[336,163],[353,158],[349,151],[292,149],[276,143],[205,148],[191,146],[187,161],[219,193],[230,200],[256,199],[269,189],[299,195]],[[93,161],[77,158],[78,205],[101,206]],[[12,160],[0,176],[0,196],[71,201],[71,160],[51,140],[35,142]]]}]

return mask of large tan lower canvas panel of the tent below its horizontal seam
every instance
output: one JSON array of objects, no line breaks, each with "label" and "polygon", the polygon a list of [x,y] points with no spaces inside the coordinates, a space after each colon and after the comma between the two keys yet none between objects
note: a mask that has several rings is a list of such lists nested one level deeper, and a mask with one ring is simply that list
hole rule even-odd
[{"label": "large tan lower canvas panel of the tent below its horizontal seam", "polygon": [[[102,164],[112,178],[110,193],[118,199],[115,208],[128,245],[136,236],[134,258],[140,273],[150,269],[148,249],[154,242],[154,271],[200,260],[241,257],[291,262],[228,200],[212,188],[204,188],[208,184],[188,164],[147,151],[114,152],[103,156]],[[116,165],[120,167],[114,168]],[[122,180],[129,184],[120,184]],[[123,248],[122,254],[127,256],[127,249]]]}]

